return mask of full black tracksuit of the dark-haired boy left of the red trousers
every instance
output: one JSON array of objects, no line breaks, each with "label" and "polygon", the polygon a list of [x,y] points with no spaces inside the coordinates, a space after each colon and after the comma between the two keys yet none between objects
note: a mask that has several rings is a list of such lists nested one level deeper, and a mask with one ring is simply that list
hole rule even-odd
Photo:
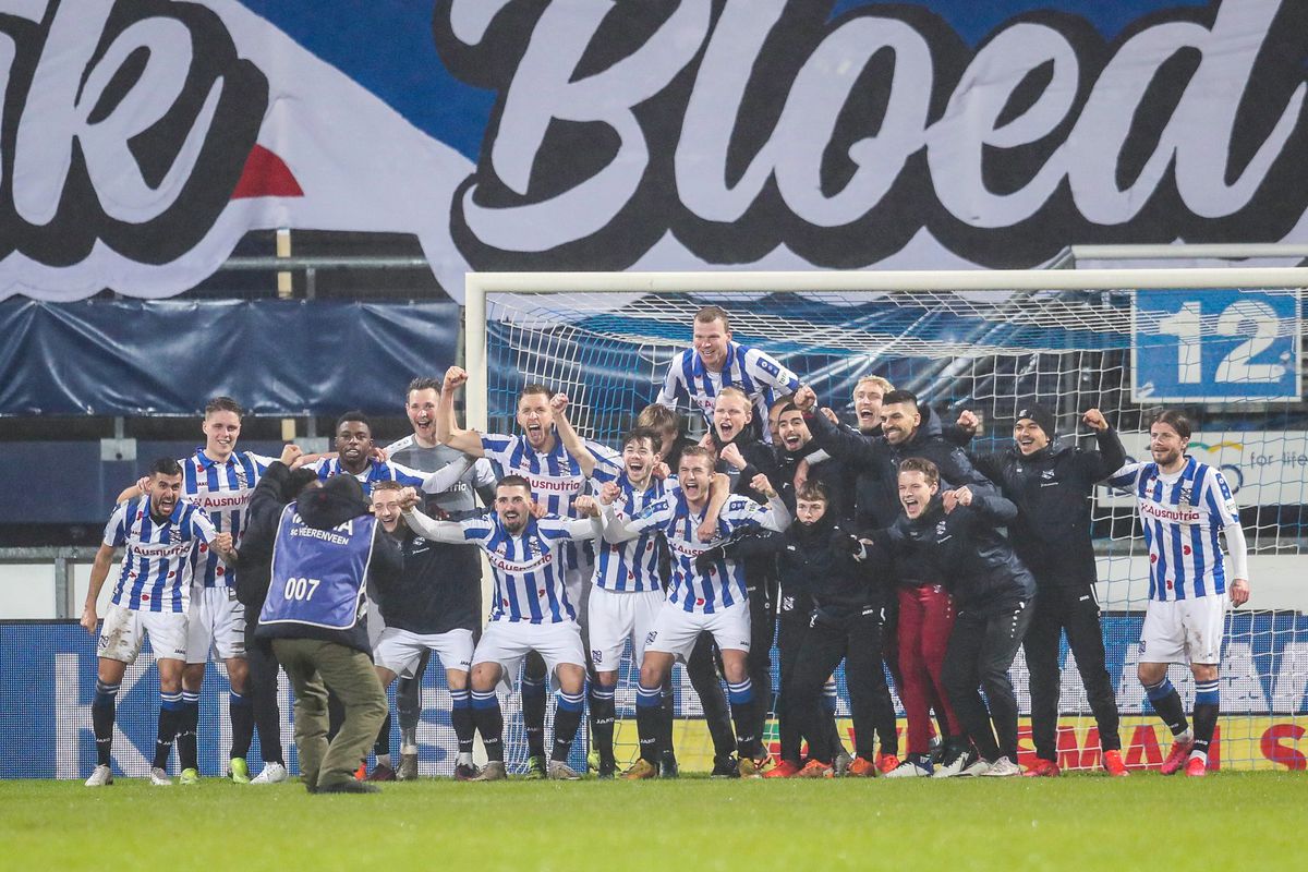
[{"label": "full black tracksuit of the dark-haired boy left of the red trousers", "polygon": [[852,545],[859,548],[846,529],[825,516],[811,527],[797,522],[785,533],[743,539],[739,544],[742,550],[776,554],[785,595],[794,591],[812,601],[782,698],[808,739],[810,757],[827,763],[837,749],[823,711],[821,689],[841,660],[858,756],[875,760],[876,736],[882,753],[897,750],[895,705],[882,665],[884,583],[854,558]]}]

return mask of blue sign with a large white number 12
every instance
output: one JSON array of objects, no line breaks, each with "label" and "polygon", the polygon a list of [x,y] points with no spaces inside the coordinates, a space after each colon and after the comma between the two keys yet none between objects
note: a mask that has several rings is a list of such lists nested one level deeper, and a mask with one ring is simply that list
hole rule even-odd
[{"label": "blue sign with a large white number 12", "polygon": [[1299,292],[1137,290],[1135,403],[1298,400]]}]

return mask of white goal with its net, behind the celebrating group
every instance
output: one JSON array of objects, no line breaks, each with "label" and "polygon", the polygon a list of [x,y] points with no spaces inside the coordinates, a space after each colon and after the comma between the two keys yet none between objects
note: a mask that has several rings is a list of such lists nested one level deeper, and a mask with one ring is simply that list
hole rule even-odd
[{"label": "white goal with its net, behind the celebrating group", "polygon": [[[670,360],[688,346],[695,312],[710,303],[730,314],[734,341],[766,350],[846,420],[855,382],[880,375],[947,421],[976,413],[974,451],[1008,448],[1016,409],[1039,401],[1056,412],[1059,435],[1083,447],[1093,439],[1080,414],[1101,409],[1127,455],[1147,458],[1148,417],[1181,408],[1196,425],[1190,454],[1220,467],[1236,492],[1250,550],[1253,599],[1227,617],[1216,765],[1303,767],[1308,594],[1295,574],[1308,505],[1304,285],[1305,269],[470,275],[468,418],[514,431],[518,391],[539,382],[572,397],[583,435],[620,448]],[[692,431],[702,430],[696,412],[679,411]],[[1156,765],[1169,735],[1135,679],[1148,554],[1130,497],[1097,490],[1093,541],[1124,756],[1130,766]],[[1066,642],[1062,658],[1059,765],[1095,767],[1097,729]],[[1189,672],[1173,667],[1171,677],[1189,711]],[[1028,763],[1020,654],[1012,680]],[[852,729],[844,676],[837,681],[840,726]],[[712,745],[680,667],[675,686],[679,758],[706,769]],[[634,690],[628,656],[617,693],[620,762],[636,756]],[[515,713],[517,701],[506,701],[510,723]],[[774,737],[774,722],[770,729]],[[521,733],[510,740],[519,753],[514,746]]]}]

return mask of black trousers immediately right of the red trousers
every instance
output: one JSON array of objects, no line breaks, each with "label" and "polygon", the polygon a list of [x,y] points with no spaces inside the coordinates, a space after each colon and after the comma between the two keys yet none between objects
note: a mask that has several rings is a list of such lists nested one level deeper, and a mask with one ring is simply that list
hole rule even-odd
[{"label": "black trousers immediately right of the red trousers", "polygon": [[[1018,698],[1008,669],[1035,611],[1031,600],[1010,600],[960,611],[954,620],[940,684],[968,739],[990,762],[1018,762]],[[985,690],[989,711],[977,688]]]}]

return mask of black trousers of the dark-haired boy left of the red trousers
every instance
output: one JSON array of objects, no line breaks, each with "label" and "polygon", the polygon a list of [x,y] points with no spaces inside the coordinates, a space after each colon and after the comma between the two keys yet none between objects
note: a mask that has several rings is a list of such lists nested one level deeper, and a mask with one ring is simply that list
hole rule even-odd
[{"label": "black trousers of the dark-haired boy left of the red trousers", "polygon": [[875,760],[878,735],[882,750],[896,752],[895,703],[886,685],[882,659],[884,620],[880,608],[852,616],[818,611],[810,618],[791,680],[782,693],[793,701],[791,711],[808,739],[811,758],[829,763],[836,753],[829,718],[821,707],[821,690],[841,660],[845,660],[845,685],[854,715],[855,753],[863,760]]}]

